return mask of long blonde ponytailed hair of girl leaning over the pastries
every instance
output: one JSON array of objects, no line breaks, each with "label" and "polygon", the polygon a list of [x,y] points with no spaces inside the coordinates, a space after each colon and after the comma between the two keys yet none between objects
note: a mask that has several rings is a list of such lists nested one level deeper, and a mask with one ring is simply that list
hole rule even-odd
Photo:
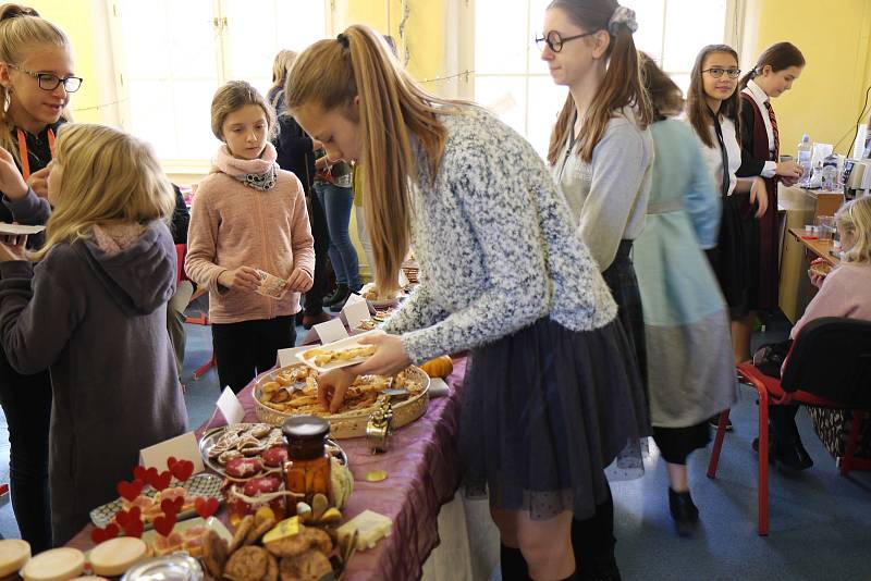
[{"label": "long blonde ponytailed hair of girl leaning over the pastries", "polygon": [[[359,97],[359,108],[353,107]],[[293,83],[284,88],[287,109],[338,110],[359,124],[365,168],[366,227],[372,240],[376,284],[395,289],[410,239],[410,188],[417,181],[414,135],[426,153],[429,178],[436,180],[447,132],[437,119],[458,112],[458,101],[421,89],[400,67],[384,39],[363,25],[349,26],[336,39],[319,40],[296,59]]]}]

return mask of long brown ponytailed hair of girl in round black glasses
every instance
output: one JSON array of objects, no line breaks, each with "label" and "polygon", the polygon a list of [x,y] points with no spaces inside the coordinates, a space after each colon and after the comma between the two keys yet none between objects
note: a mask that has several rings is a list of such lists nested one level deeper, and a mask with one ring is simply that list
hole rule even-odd
[{"label": "long brown ponytailed hair of girl in round black glasses", "polygon": [[[609,21],[617,7],[616,0],[553,0],[548,10],[562,10],[574,24],[585,32],[592,33],[609,29]],[[611,33],[611,41],[604,58],[609,62],[605,77],[586,113],[584,134],[578,143],[578,154],[588,163],[592,160],[592,150],[602,138],[614,110],[627,106],[635,108],[636,119],[641,128],[647,127],[652,120],[647,92],[641,84],[638,51],[635,48],[633,33],[627,26],[621,25],[616,34]],[[575,101],[569,94],[551,133],[548,148],[548,161],[551,165],[556,163],[569,132],[574,131],[572,120],[575,113]]]}]

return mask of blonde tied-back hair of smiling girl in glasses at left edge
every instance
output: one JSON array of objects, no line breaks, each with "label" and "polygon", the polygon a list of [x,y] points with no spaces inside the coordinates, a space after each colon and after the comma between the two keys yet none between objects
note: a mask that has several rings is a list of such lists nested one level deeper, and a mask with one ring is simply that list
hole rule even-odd
[{"label": "blonde tied-back hair of smiling girl in glasses at left edge", "polygon": [[[70,49],[70,40],[63,30],[40,17],[36,10],[19,4],[0,7],[0,62],[20,65],[29,51],[41,45]],[[0,85],[0,147],[21,163],[17,141],[12,136],[15,122],[7,112],[11,100],[12,92]],[[70,119],[66,110],[63,116]]]}]

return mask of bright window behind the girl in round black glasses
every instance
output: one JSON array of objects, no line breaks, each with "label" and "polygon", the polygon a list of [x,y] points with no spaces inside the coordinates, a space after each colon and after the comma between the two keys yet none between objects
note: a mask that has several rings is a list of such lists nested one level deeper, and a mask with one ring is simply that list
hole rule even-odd
[{"label": "bright window behind the girl in round black glasses", "polygon": [[[621,0],[635,10],[635,42],[686,90],[696,54],[731,38],[735,0]],[[567,97],[551,81],[533,38],[550,0],[475,0],[474,98],[535,146],[548,150],[551,127]],[[703,16],[703,17],[702,17]]]}]

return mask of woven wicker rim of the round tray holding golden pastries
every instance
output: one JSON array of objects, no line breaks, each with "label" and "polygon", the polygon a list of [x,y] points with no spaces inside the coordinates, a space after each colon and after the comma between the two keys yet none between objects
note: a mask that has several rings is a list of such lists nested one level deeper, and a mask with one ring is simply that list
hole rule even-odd
[{"label": "woven wicker rim of the round tray holding golden pastries", "polygon": [[[281,425],[284,420],[293,417],[292,413],[284,413],[265,406],[260,401],[260,394],[265,383],[274,381],[275,376],[284,370],[303,366],[303,363],[295,363],[287,366],[275,371],[271,371],[257,380],[254,385],[254,406],[257,412],[257,419],[265,423],[273,425]],[[405,401],[400,401],[393,406],[393,427],[402,428],[412,423],[420,418],[427,411],[429,404],[429,375],[424,370],[417,367],[409,369],[414,379],[419,380],[424,385],[424,391],[419,394],[409,397]],[[330,437],[342,440],[347,437],[360,437],[366,435],[366,424],[369,421],[371,409],[356,410],[348,413],[333,413],[323,416],[323,419],[330,422]]]}]

